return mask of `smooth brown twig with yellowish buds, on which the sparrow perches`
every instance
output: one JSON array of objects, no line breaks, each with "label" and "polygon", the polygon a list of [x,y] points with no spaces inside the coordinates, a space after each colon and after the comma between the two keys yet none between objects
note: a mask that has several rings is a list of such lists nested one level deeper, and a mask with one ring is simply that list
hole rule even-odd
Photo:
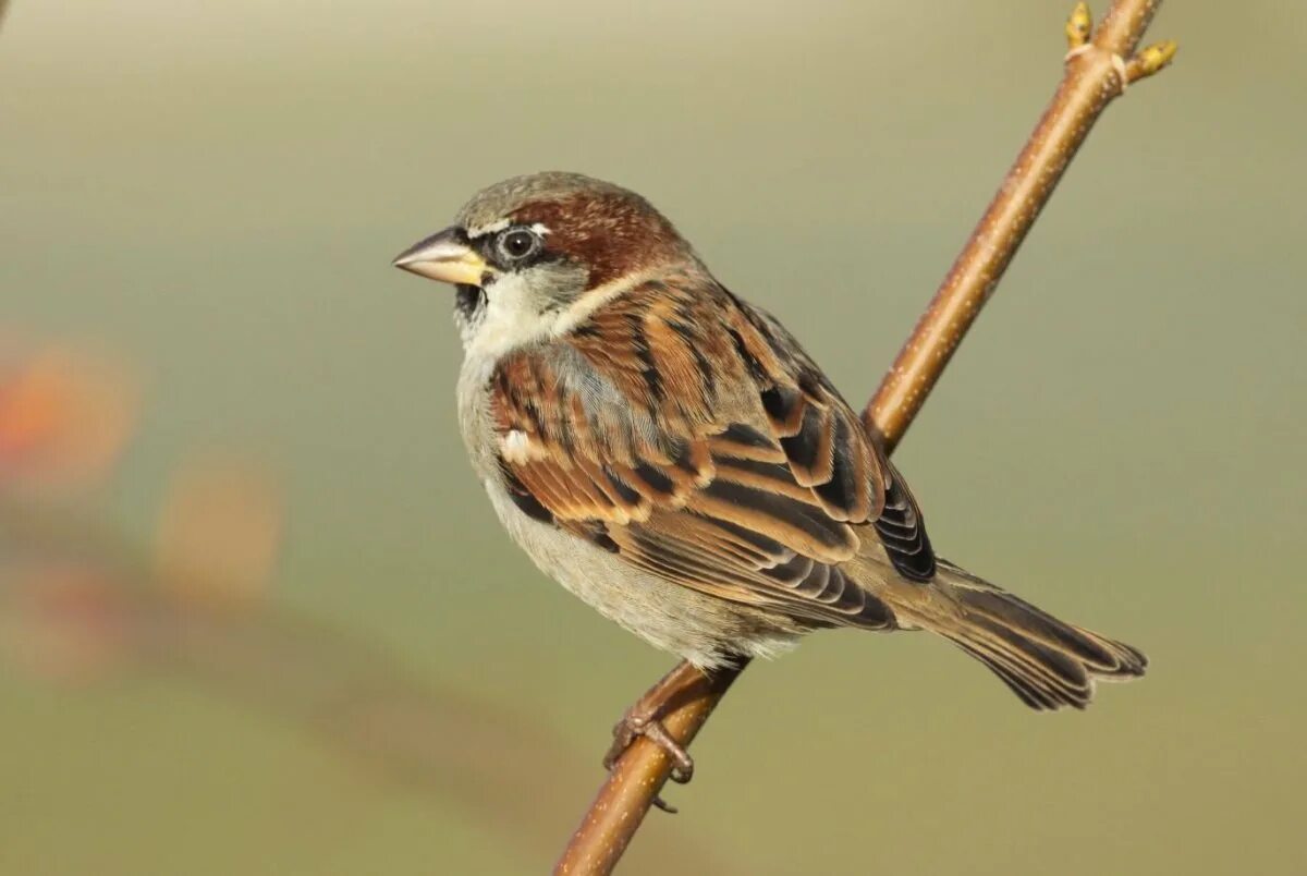
[{"label": "smooth brown twig with yellowish buds, on which the sparrow perches", "polygon": [[[886,452],[920,412],[1094,122],[1128,84],[1175,56],[1174,42],[1134,51],[1158,7],[1161,0],[1116,0],[1097,33],[1089,8],[1080,3],[1073,9],[1061,85],[867,405],[864,422]],[[687,663],[677,665],[668,676],[676,681],[664,718],[668,732],[687,745],[738,673],[710,679]],[[612,872],[670,769],[657,745],[635,740],[600,787],[554,872]]]}]

